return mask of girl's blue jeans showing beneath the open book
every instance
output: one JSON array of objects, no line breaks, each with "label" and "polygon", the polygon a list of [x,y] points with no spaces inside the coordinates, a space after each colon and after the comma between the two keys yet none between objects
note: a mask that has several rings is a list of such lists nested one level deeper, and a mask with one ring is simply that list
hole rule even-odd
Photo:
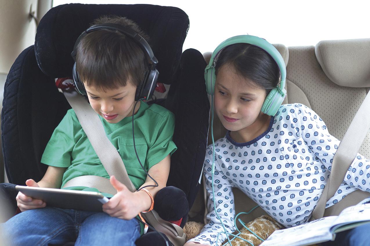
[{"label": "girl's blue jeans showing beneath the open book", "polygon": [[370,223],[337,233],[334,241],[323,246],[368,246],[370,245]]}]

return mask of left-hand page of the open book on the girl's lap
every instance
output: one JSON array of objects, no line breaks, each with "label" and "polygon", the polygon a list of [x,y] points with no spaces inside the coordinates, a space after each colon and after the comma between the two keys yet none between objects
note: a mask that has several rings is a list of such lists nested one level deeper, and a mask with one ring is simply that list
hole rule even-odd
[{"label": "left-hand page of the open book on the girl's lap", "polygon": [[276,230],[260,246],[304,246],[333,239],[329,228],[337,216],[325,217],[283,230]]}]

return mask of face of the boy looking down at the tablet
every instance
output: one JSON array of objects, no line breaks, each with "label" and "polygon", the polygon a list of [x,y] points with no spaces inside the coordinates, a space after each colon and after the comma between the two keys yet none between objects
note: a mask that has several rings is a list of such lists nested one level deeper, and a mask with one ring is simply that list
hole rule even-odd
[{"label": "face of the boy looking down at the tablet", "polygon": [[[130,80],[126,86],[117,89],[96,89],[84,83],[91,107],[108,123],[118,123],[124,117],[131,116],[135,105],[136,86]],[[140,107],[140,103],[135,111]],[[136,113],[135,112],[135,113]]]}]

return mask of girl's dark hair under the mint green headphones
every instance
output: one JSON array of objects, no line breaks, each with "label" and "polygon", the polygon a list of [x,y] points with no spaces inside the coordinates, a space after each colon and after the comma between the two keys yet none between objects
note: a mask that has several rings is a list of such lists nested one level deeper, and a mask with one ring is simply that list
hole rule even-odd
[{"label": "girl's dark hair under the mint green headphones", "polygon": [[255,82],[266,95],[279,83],[280,70],[275,60],[262,48],[238,43],[224,48],[216,57],[216,75],[223,65],[232,65],[236,73]]}]

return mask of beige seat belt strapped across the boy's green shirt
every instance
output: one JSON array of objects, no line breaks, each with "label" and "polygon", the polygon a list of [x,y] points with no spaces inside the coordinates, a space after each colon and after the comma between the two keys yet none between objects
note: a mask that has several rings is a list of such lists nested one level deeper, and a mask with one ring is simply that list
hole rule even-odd
[{"label": "beige seat belt strapped across the boy's green shirt", "polygon": [[[109,176],[114,175],[131,192],[135,192],[136,188],[128,177],[122,158],[105,134],[103,124],[97,113],[84,97],[79,95],[74,89],[64,90],[63,94],[76,113],[78,121]],[[73,178],[63,188],[70,186],[94,187],[101,192],[117,193],[107,178],[94,175]],[[158,232],[164,233],[174,246],[183,246],[185,244],[186,235],[180,226],[161,219],[154,210],[142,213],[142,216]]]}]

